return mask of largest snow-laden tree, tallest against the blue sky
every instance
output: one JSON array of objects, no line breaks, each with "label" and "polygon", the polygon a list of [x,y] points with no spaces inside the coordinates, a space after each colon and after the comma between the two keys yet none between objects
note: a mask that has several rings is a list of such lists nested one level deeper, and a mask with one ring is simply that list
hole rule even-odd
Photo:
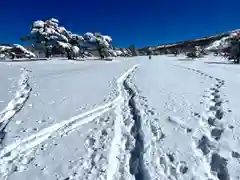
[{"label": "largest snow-laden tree, tallest against the blue sky", "polygon": [[45,49],[46,57],[50,56],[53,47],[58,47],[71,59],[79,53],[77,42],[82,41],[83,37],[59,26],[59,21],[51,18],[46,21],[33,22],[30,34],[23,40],[32,41],[36,49]]}]

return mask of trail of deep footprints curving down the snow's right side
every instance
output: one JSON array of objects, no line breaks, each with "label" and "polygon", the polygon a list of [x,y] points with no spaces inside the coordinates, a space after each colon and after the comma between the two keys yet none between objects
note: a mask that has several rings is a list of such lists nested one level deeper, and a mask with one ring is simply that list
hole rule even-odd
[{"label": "trail of deep footprints curving down the snow's right side", "polygon": [[[202,115],[198,117],[203,135],[201,139],[196,139],[196,142],[193,143],[195,146],[193,148],[195,148],[196,155],[205,167],[207,172],[206,178],[230,180],[227,169],[227,159],[221,157],[217,149],[218,141],[221,139],[221,135],[225,128],[223,122],[221,122],[225,115],[222,107],[224,99],[222,99],[220,95],[221,88],[225,85],[225,81],[197,69],[178,67],[193,71],[200,76],[215,81],[212,87],[205,91],[207,94],[203,96],[205,99],[204,108]],[[204,159],[202,159],[202,154]]]}]

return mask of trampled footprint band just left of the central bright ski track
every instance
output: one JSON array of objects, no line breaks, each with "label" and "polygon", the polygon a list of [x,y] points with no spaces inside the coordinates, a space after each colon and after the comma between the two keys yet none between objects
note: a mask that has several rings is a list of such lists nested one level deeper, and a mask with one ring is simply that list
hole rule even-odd
[{"label": "trampled footprint band just left of the central bright ski track", "polygon": [[105,117],[99,117],[95,123],[101,125],[101,129],[92,129],[85,139],[84,147],[86,155],[77,160],[75,171],[68,178],[71,179],[107,179],[107,150],[110,149],[112,139],[110,134],[114,133],[113,123],[110,112]]}]

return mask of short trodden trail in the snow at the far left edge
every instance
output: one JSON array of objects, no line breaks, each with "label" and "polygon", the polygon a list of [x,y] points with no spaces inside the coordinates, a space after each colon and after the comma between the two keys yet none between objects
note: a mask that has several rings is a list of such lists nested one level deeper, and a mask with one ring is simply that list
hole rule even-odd
[{"label": "short trodden trail in the snow at the far left edge", "polygon": [[16,92],[15,97],[8,103],[7,107],[0,112],[0,144],[6,135],[5,129],[7,125],[13,116],[23,108],[32,90],[28,83],[29,71],[25,68],[21,68],[21,70],[22,74],[18,82],[18,91]]}]

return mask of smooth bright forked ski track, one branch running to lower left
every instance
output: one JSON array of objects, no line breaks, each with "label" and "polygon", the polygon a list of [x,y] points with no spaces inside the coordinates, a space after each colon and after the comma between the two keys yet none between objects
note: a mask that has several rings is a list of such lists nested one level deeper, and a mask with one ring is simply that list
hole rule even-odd
[{"label": "smooth bright forked ski track, one branch running to lower left", "polygon": [[[121,131],[124,124],[122,107],[124,102],[126,102],[126,97],[124,97],[123,83],[138,66],[139,65],[133,66],[131,69],[123,73],[120,78],[118,78],[117,89],[119,94],[113,101],[94,108],[88,112],[71,117],[68,120],[54,124],[48,128],[42,129],[38,133],[32,134],[27,138],[18,140],[4,147],[4,149],[0,151],[0,179],[7,179],[7,177],[14,171],[14,160],[21,158],[21,156],[25,154],[28,154],[34,147],[48,139],[52,139],[57,136],[63,136],[64,134],[74,131],[83,124],[89,123],[97,117],[100,117],[102,114],[114,109],[116,114],[116,120],[114,121],[114,137],[111,142],[107,168],[107,180],[114,180],[114,176],[119,167],[118,155],[120,155],[120,151],[122,151],[119,147],[124,147],[125,142],[123,141]],[[28,87],[28,84],[26,83],[27,81],[25,80],[24,82]]]}]

